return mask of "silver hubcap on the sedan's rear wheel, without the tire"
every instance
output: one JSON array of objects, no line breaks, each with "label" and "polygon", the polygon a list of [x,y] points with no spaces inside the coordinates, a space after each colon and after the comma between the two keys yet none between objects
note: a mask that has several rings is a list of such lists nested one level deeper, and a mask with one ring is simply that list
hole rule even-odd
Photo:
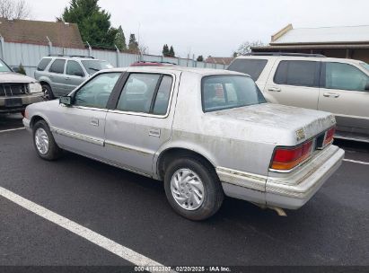
[{"label": "silver hubcap on the sedan's rear wheel, without the tire", "polygon": [[171,195],[180,207],[195,210],[204,202],[204,184],[195,172],[180,169],[171,177]]}]

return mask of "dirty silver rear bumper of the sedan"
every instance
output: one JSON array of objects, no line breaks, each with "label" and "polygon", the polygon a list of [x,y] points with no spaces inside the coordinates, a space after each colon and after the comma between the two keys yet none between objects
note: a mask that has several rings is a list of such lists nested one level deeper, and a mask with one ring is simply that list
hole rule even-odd
[{"label": "dirty silver rear bumper of the sedan", "polygon": [[321,188],[337,171],[345,152],[330,145],[311,162],[293,173],[260,176],[256,174],[216,168],[225,195],[257,203],[265,207],[297,209]]}]

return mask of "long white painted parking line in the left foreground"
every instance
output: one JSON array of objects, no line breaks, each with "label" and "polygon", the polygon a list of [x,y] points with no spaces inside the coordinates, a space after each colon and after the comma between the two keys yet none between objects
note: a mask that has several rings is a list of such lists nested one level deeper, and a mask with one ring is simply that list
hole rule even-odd
[{"label": "long white painted parking line in the left foreground", "polygon": [[[37,205],[36,203],[33,203],[26,198],[22,198],[9,189],[4,189],[3,187],[0,187],[0,196],[9,199],[13,203],[24,207],[32,213],[41,216],[54,224],[64,227],[66,230],[83,237],[84,239],[100,246],[107,251],[110,251],[111,253],[118,255],[124,260],[130,261],[136,266],[163,267],[163,265],[158,263],[157,261],[151,260],[150,258],[137,253],[136,251],[132,251],[127,247],[120,245],[118,242],[111,241],[107,237],[104,237],[99,233],[95,233],[91,229],[88,229],[83,225],[78,225],[77,223],[67,219],[64,216],[59,216],[55,212],[52,212],[45,207],[41,207],[40,205]],[[148,268],[147,270],[151,271],[150,268]]]}]

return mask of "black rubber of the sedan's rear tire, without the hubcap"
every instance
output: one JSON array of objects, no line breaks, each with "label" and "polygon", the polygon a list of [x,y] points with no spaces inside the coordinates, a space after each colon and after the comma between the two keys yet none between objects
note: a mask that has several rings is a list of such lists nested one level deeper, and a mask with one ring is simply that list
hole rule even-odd
[{"label": "black rubber of the sedan's rear tire, without the hubcap", "polygon": [[[195,172],[203,182],[203,203],[195,210],[180,207],[171,193],[171,177],[180,169]],[[180,215],[190,220],[199,221],[213,216],[222,206],[224,192],[216,175],[215,169],[209,163],[196,157],[181,157],[171,162],[165,170],[164,189],[171,207]]]}]

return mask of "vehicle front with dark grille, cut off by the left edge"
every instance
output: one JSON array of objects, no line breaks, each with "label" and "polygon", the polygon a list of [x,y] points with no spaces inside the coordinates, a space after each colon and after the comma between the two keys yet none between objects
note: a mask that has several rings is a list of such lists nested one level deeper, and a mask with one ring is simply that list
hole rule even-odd
[{"label": "vehicle front with dark grille, cut off by the left edge", "polygon": [[22,112],[27,105],[43,101],[41,85],[33,78],[13,72],[0,59],[0,113]]}]

